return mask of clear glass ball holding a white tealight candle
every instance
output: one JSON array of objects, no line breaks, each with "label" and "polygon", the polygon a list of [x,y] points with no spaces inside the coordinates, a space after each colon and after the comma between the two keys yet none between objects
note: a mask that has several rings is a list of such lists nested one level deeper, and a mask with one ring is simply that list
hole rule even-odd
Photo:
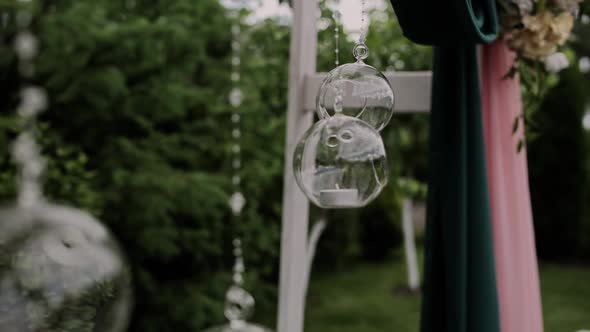
[{"label": "clear glass ball holding a white tealight candle", "polygon": [[357,208],[374,200],[389,169],[379,133],[366,122],[337,113],[318,121],[293,156],[295,179],[321,208]]}]

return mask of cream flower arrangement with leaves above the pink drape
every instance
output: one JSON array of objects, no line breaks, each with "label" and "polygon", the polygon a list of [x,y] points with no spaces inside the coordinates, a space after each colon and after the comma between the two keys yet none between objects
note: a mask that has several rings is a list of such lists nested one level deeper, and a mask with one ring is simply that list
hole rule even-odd
[{"label": "cream flower arrangement with leaves above the pink drape", "polygon": [[[502,38],[517,55],[506,78],[519,74],[525,97],[524,112],[514,121],[515,133],[521,122],[534,131],[530,115],[538,109],[549,88],[558,82],[556,73],[569,67],[570,58],[574,56],[566,43],[576,18],[581,15],[584,1],[590,2],[498,0]],[[524,145],[522,138],[518,149]]]}]

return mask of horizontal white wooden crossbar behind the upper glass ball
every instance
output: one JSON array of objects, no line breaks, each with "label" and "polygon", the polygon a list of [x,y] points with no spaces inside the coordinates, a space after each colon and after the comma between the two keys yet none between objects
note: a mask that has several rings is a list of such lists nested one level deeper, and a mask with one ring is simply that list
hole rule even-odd
[{"label": "horizontal white wooden crossbar behind the upper glass ball", "polygon": [[[430,110],[430,87],[432,74],[429,71],[387,72],[385,76],[395,93],[395,111],[398,113],[423,113]],[[305,77],[305,102],[307,111],[315,111],[316,97],[325,73]]]}]

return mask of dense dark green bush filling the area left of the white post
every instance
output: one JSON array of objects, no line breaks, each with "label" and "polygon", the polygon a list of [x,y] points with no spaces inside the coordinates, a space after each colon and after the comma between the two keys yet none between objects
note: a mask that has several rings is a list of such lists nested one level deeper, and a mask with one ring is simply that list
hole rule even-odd
[{"label": "dense dark green bush filling the area left of the white post", "polygon": [[[2,3],[2,11],[9,6]],[[132,7],[45,1],[35,16],[41,56],[34,81],[51,96],[41,118],[45,190],[53,200],[95,212],[125,247],[136,284],[133,331],[194,331],[222,320],[236,235],[256,267],[249,286],[263,304],[272,300],[280,201],[268,198],[281,192],[287,29],[267,22],[247,36],[258,38],[249,52],[261,56],[244,69],[242,176],[249,201],[244,218],[232,220],[224,126],[231,111],[230,26],[214,0]],[[3,44],[14,35],[10,21]],[[18,129],[11,110],[20,83],[10,48],[0,53],[0,137],[7,143]],[[1,152],[0,194],[12,199],[7,144]]]}]

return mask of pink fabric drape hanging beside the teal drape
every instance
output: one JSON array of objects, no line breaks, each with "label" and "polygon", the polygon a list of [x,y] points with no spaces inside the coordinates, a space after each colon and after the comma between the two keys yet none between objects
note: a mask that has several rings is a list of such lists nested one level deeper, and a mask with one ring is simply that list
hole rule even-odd
[{"label": "pink fabric drape hanging beside the teal drape", "polygon": [[517,152],[518,78],[503,79],[514,54],[503,41],[481,52],[482,111],[502,332],[541,332],[543,317],[526,152]]}]

